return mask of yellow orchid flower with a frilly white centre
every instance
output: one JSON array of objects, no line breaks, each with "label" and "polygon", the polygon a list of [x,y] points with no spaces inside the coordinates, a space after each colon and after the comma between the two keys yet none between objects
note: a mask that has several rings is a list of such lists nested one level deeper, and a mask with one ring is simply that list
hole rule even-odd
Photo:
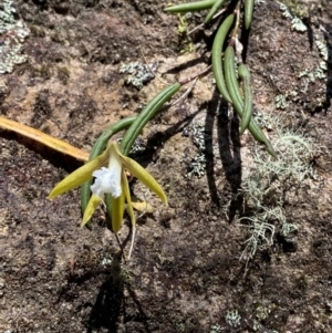
[{"label": "yellow orchid flower with a frilly white centre", "polygon": [[82,226],[90,220],[105,195],[110,194],[112,206],[112,229],[115,233],[117,233],[123,225],[124,205],[126,201],[133,226],[133,238],[128,254],[128,258],[131,258],[135,238],[136,220],[125,169],[138,178],[145,186],[155,192],[164,204],[167,205],[167,197],[160,185],[138,163],[124,156],[115,142],[110,143],[102,155],[86,163],[84,166],[80,167],[60,181],[52,189],[49,198],[60,196],[65,191],[82,185],[92,177],[95,177],[95,181],[91,186],[93,195],[91,196],[84,211]]}]

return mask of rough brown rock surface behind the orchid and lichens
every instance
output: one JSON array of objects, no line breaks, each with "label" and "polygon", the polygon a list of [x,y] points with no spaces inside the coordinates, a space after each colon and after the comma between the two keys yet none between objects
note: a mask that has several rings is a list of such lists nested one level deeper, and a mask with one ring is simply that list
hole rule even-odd
[{"label": "rough brown rock surface behind the orchid and lichens", "polygon": [[[107,124],[137,114],[163,81],[204,70],[217,27],[196,31],[196,52],[180,55],[185,43],[177,17],[163,12],[166,2],[14,4],[31,33],[28,61],[0,77],[8,87],[1,115],[84,150]],[[81,164],[1,131],[0,332],[332,332],[332,4],[303,6],[310,9],[304,33],[291,30],[277,2],[257,7],[246,48],[256,107],[282,115],[323,147],[317,178],[283,207],[298,233],[239,260],[247,235],[236,222],[242,207],[235,198],[255,143],[239,137],[238,119],[222,112],[211,72],[143,132],[134,157],[165,188],[169,206],[133,181],[154,212],[138,219],[127,262],[102,210],[91,230],[80,228],[79,189],[46,198]],[[189,27],[203,18],[188,19]],[[299,74],[322,61],[315,38],[330,46],[328,80],[305,86]],[[142,90],[126,84],[120,66],[136,61],[157,63],[162,79]],[[276,108],[280,94],[284,110]],[[186,177],[198,152],[193,135],[184,135],[190,125],[205,131],[200,178]],[[126,222],[125,251],[128,235]]]}]

